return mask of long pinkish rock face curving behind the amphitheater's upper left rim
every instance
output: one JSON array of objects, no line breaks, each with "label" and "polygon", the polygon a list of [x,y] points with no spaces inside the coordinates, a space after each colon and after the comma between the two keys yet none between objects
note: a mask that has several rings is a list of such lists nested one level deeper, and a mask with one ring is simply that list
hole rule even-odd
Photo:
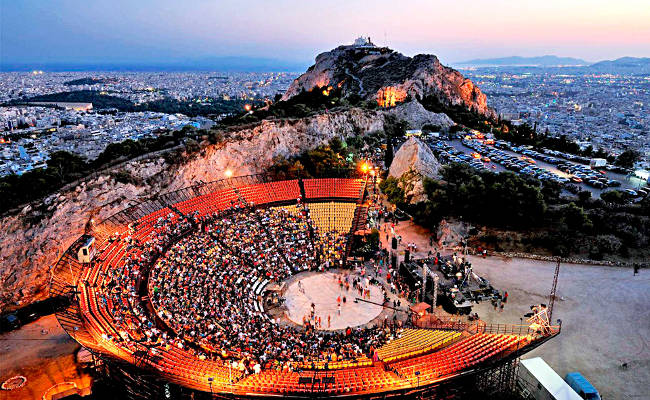
[{"label": "long pinkish rock face curving behind the amphitheater's upper left rim", "polygon": [[350,109],[295,120],[263,121],[233,129],[225,143],[204,148],[180,164],[162,156],[128,162],[116,169],[129,171],[142,186],[118,183],[109,174],[81,183],[75,189],[45,199],[49,216],[25,207],[0,218],[0,311],[26,305],[47,296],[50,270],[64,251],[84,232],[88,220],[101,221],[129,206],[185,186],[222,179],[230,168],[234,176],[262,172],[276,156],[290,157],[358,133],[383,129],[381,112]]}]

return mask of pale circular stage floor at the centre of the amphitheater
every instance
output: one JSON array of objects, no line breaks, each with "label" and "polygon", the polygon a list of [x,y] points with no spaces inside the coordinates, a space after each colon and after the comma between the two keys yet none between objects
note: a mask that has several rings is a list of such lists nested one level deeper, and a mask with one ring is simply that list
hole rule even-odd
[{"label": "pale circular stage floor at the centre of the amphitheater", "polygon": [[[347,271],[346,271],[347,272]],[[303,317],[311,312],[311,304],[315,305],[315,315],[321,318],[321,327],[323,330],[345,329],[365,325],[375,319],[383,310],[383,307],[376,304],[359,301],[354,302],[355,298],[362,298],[358,290],[354,290],[352,282],[355,277],[359,276],[350,272],[350,290],[344,286],[340,288],[336,272],[304,272],[291,280],[287,291],[285,292],[285,306],[287,307],[287,317],[298,325],[303,324]],[[300,285],[299,285],[300,282]],[[361,279],[362,286],[365,285],[365,278]],[[384,296],[379,286],[368,285],[370,288],[369,300],[382,304]],[[302,290],[301,290],[302,287]],[[337,298],[341,297],[341,315],[338,314]],[[343,297],[346,302],[343,303]],[[328,327],[327,317],[330,316],[330,325]]]}]

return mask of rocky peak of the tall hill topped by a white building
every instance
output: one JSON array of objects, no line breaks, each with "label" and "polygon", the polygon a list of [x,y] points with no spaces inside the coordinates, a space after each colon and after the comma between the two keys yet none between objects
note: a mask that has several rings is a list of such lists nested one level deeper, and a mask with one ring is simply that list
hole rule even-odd
[{"label": "rocky peak of the tall hill topped by a white building", "polygon": [[461,105],[495,116],[485,94],[434,55],[406,57],[386,47],[339,46],[319,54],[316,63],[299,76],[283,100],[316,86],[338,86],[345,96],[357,94],[392,106],[416,97],[435,96],[447,105]]}]

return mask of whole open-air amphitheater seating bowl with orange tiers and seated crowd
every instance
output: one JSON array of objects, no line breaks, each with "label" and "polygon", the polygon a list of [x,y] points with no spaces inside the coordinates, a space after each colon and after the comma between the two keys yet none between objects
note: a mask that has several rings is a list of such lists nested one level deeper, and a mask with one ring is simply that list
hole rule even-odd
[{"label": "whole open-air amphitheater seating bowl with orange tiers and seated crowd", "polygon": [[390,332],[326,331],[269,315],[265,296],[288,278],[348,266],[371,184],[248,176],[132,206],[61,258],[52,291],[70,302],[57,318],[133,398],[437,396],[459,379],[511,384],[516,360],[559,327],[414,315]]}]

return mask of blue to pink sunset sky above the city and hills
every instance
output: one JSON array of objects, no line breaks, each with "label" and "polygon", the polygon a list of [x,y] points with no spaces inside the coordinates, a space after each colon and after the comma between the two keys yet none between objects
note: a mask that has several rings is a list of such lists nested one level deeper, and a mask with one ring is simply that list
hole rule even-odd
[{"label": "blue to pink sunset sky above the city and hills", "polygon": [[3,63],[158,63],[254,56],[305,63],[369,35],[443,62],[650,56],[648,0],[0,0]]}]

